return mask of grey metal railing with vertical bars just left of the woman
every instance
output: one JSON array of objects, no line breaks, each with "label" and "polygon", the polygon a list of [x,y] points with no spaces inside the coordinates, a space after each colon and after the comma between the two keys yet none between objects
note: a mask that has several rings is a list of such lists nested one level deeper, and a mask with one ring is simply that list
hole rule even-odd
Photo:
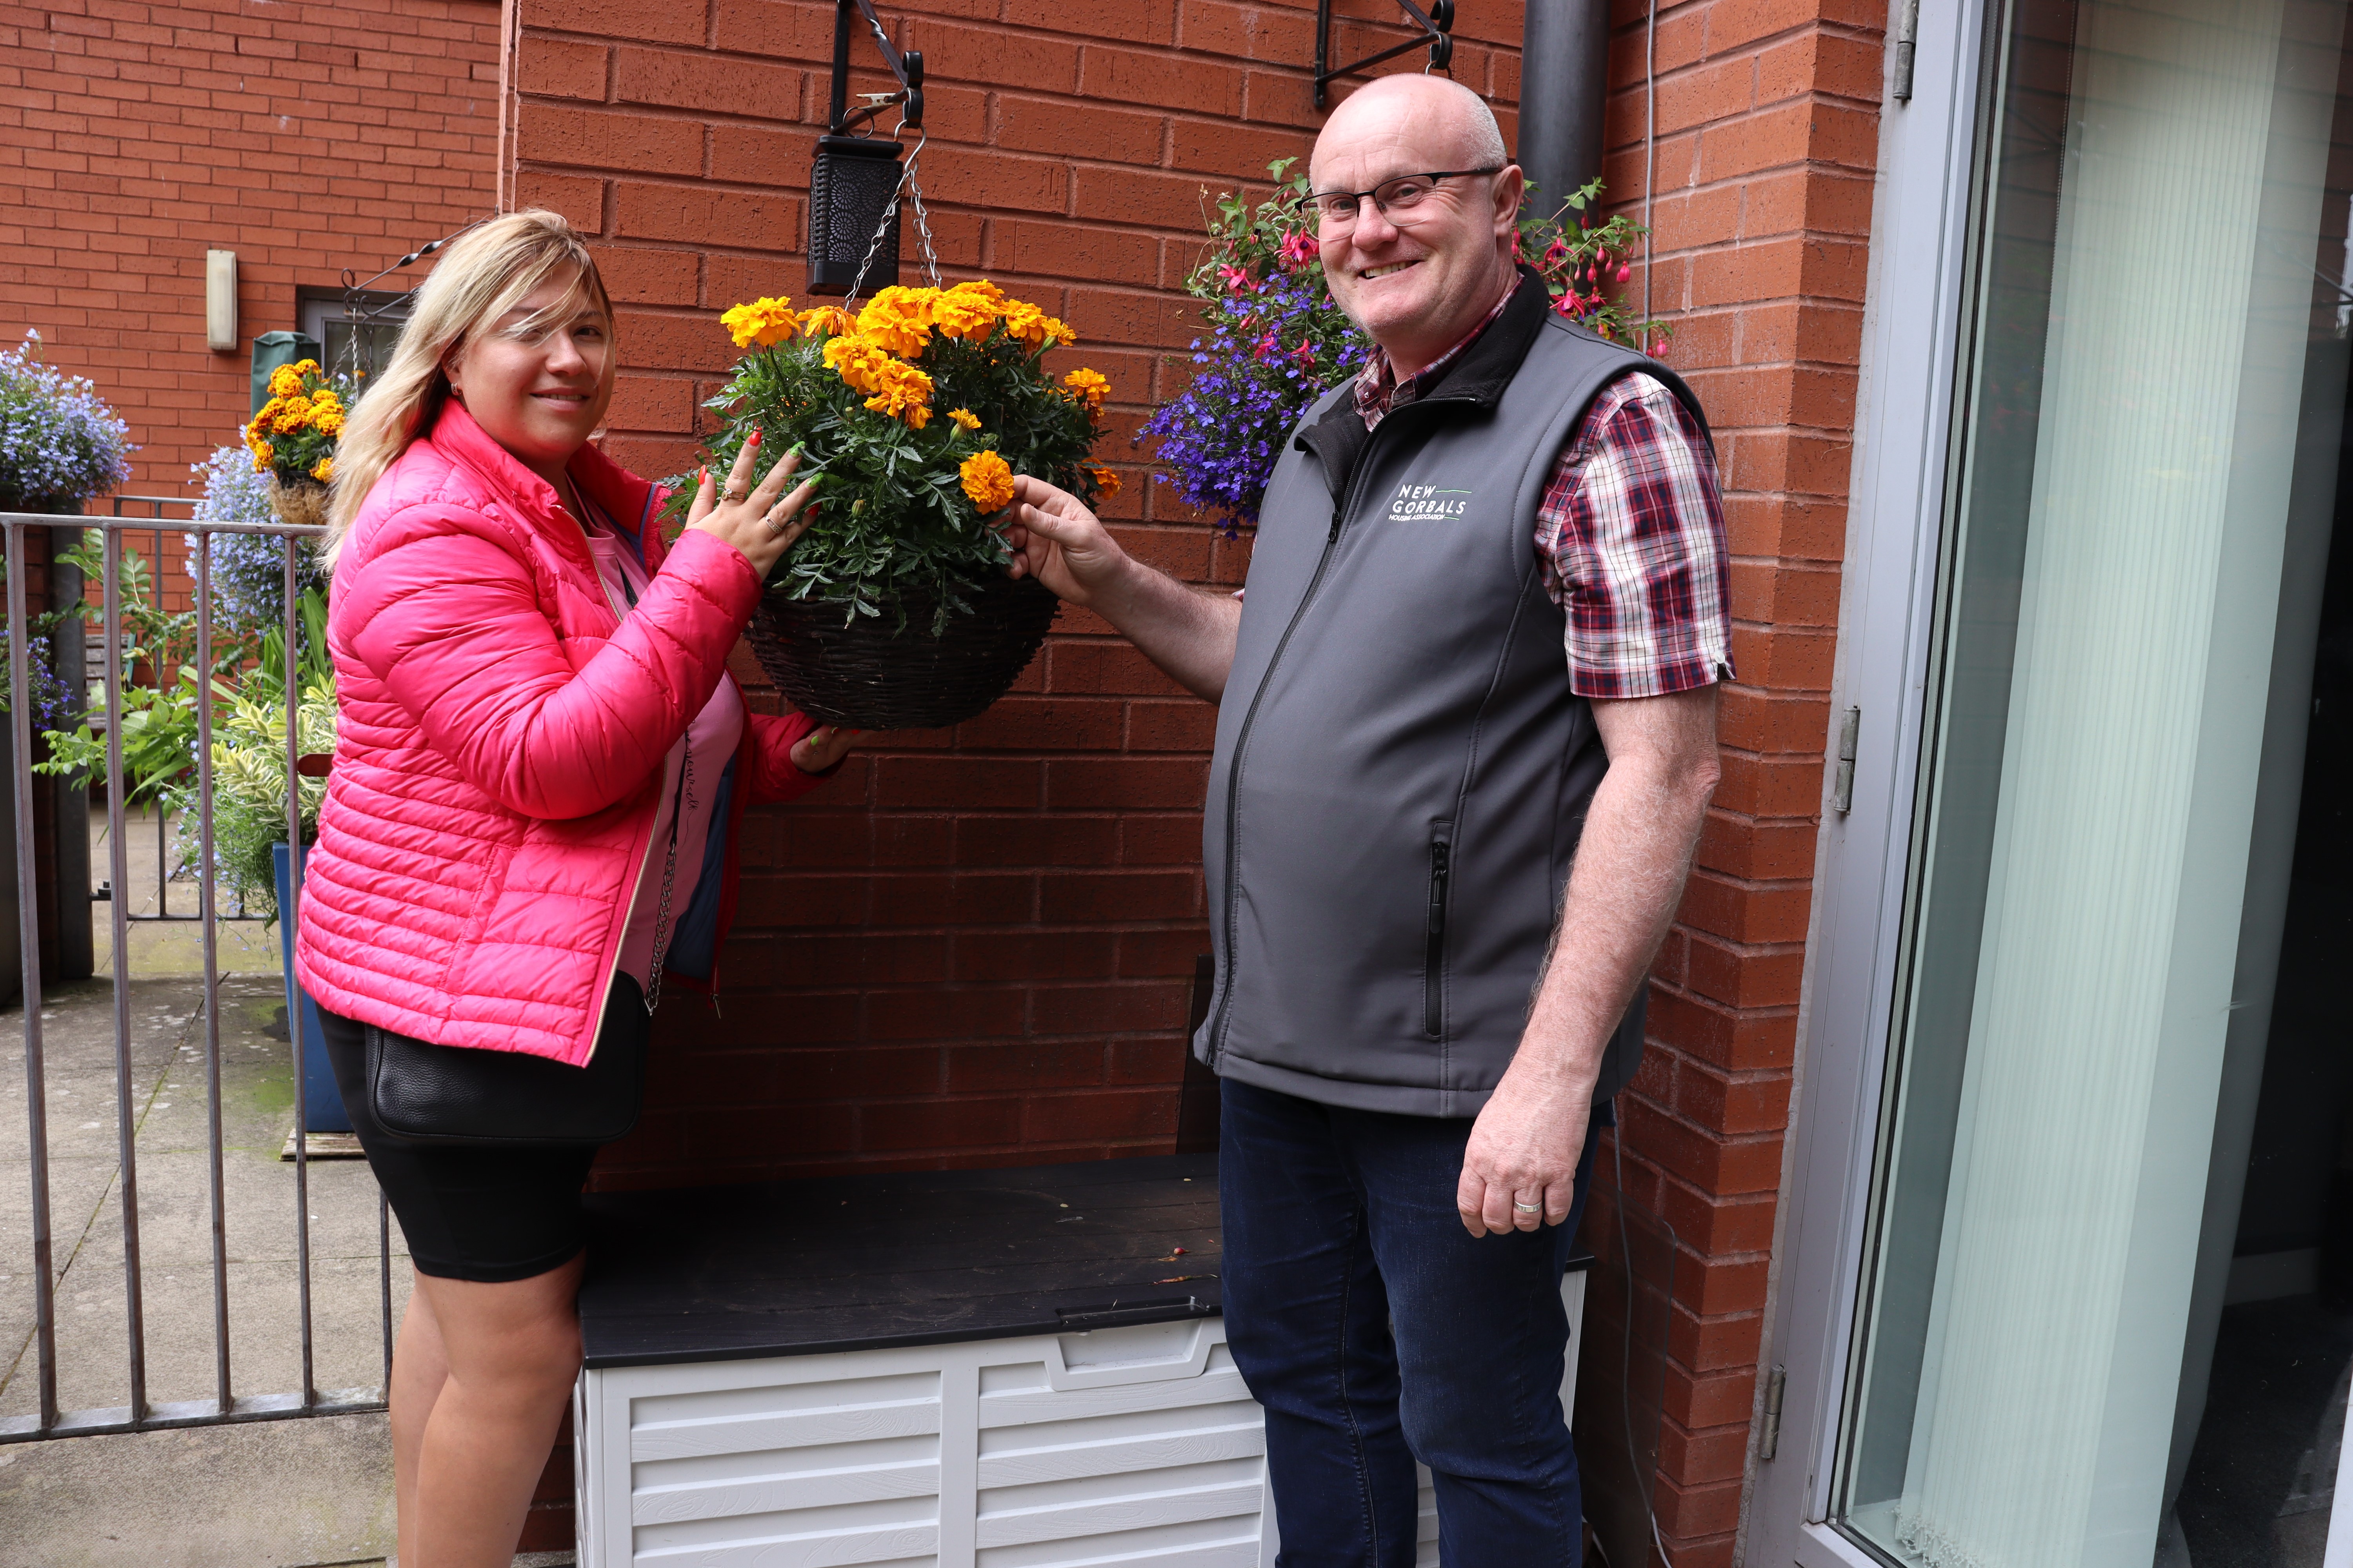
[{"label": "grey metal railing with vertical bars just left of the woman", "polygon": [[[134,496],[132,503],[165,501]],[[120,512],[120,501],[118,501]],[[160,505],[155,517],[160,517]],[[193,534],[198,541],[191,574],[195,578],[195,668],[207,672],[214,658],[212,628],[212,541],[221,534],[268,534],[285,541],[285,717],[287,717],[287,839],[301,844],[301,661],[296,658],[299,602],[296,602],[296,541],[322,529],[292,524],[233,524],[174,520],[174,531]],[[202,1016],[205,1016],[205,1095],[207,1095],[207,1171],[209,1171],[209,1222],[212,1222],[212,1385],[209,1399],[172,1403],[148,1401],[148,1333],[144,1314],[144,1279],[139,1246],[139,1147],[136,1117],[132,1103],[132,964],[129,924],[120,889],[127,886],[127,849],[122,842],[122,538],[132,531],[153,529],[158,536],[158,567],[162,562],[162,527],[129,517],[49,517],[28,512],[0,512],[0,529],[7,534],[7,621],[12,628],[31,625],[26,602],[26,536],[31,529],[96,529],[104,534],[104,637],[106,637],[106,827],[111,856],[111,884],[118,896],[108,905],[113,924],[113,1088],[115,1088],[115,1157],[120,1173],[120,1225],[122,1225],[122,1284],[127,1302],[127,1382],[125,1406],[61,1410],[59,1408],[59,1347],[56,1347],[56,1288],[59,1269],[54,1258],[54,1232],[49,1213],[49,1114],[45,1093],[45,1037],[42,1037],[42,952],[40,910],[35,886],[35,818],[33,818],[33,686],[28,668],[28,637],[7,639],[9,712],[14,738],[14,835],[16,835],[16,917],[19,959],[24,966],[24,1077],[26,1077],[26,1138],[31,1171],[31,1229],[33,1229],[33,1352],[38,1356],[38,1415],[0,1418],[0,1443],[80,1436],[96,1432],[141,1432],[155,1427],[195,1427],[214,1422],[271,1420],[289,1415],[320,1415],[341,1410],[384,1408],[384,1389],[391,1385],[393,1363],[393,1274],[391,1274],[391,1220],[381,1194],[376,1194],[376,1298],[381,1309],[381,1382],[379,1387],[320,1392],[315,1387],[313,1300],[311,1300],[311,1128],[304,1107],[304,1009],[301,992],[287,978],[292,1004],[287,1006],[287,1044],[294,1063],[294,1267],[296,1267],[296,1319],[301,1352],[301,1387],[280,1394],[238,1394],[231,1368],[231,1314],[228,1314],[228,1192],[224,1182],[224,1135],[221,1135],[221,969],[216,931],[216,863],[214,863],[214,792],[212,792],[212,691],[200,679],[198,698],[198,745],[195,745],[195,811],[198,811],[198,912],[202,931]],[[155,670],[162,679],[162,670]],[[296,851],[299,853],[299,851]],[[289,879],[289,898],[280,919],[294,922],[301,900],[301,875]],[[85,1124],[89,1126],[89,1124]],[[5,1267],[7,1260],[0,1260]],[[5,1373],[0,1363],[0,1373]]]}]

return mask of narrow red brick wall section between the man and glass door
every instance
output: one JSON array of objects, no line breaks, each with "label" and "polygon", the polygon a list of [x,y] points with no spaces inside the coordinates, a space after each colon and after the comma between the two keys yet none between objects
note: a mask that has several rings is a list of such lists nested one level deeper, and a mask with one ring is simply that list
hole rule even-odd
[{"label": "narrow red brick wall section between the man and glass door", "polygon": [[[1638,197],[1642,5],[1619,0],[1612,14],[1607,179]],[[1831,722],[1885,14],[1880,0],[1659,7],[1652,299],[1675,327],[1664,357],[1715,425],[1739,668],[1722,708],[1725,780],[1654,971],[1649,1053],[1619,1100],[1626,1190],[1680,1241],[1657,1490],[1678,1568],[1732,1561],[1758,1401]]]}]

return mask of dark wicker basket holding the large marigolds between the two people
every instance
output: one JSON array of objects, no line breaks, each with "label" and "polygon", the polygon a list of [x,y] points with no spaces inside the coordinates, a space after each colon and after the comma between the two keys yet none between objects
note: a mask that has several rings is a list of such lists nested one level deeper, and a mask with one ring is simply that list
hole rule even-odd
[{"label": "dark wicker basket holding the large marigolds between the two people", "polygon": [[812,719],[852,729],[946,729],[1005,696],[1061,609],[1061,599],[1033,578],[995,574],[967,585],[965,602],[972,614],[951,614],[934,637],[934,595],[908,592],[882,604],[880,616],[845,625],[840,604],[769,590],[746,635],[767,677]]}]

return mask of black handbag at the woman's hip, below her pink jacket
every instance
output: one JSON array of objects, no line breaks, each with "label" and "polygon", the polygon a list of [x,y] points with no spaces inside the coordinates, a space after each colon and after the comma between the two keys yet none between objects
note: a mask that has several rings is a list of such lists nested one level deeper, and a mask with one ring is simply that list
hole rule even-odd
[{"label": "black handbag at the woman's hip, below her pink jacket", "polygon": [[595,1056],[569,1067],[522,1051],[435,1046],[362,1025],[367,1110],[398,1143],[581,1145],[626,1138],[645,1100],[645,994],[614,976]]}]

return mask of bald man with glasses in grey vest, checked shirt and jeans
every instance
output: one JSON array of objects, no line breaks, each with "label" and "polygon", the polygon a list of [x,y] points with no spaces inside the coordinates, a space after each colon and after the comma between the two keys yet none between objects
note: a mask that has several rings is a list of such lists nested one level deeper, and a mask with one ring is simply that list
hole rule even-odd
[{"label": "bald man with glasses in grey vest, checked shirt and jeans", "polygon": [[1398,75],[1311,160],[1374,348],[1292,435],[1247,597],[1016,482],[1033,574],[1219,703],[1202,816],[1221,1284],[1285,1568],[1574,1568],[1560,1276],[1715,790],[1706,421],[1513,263],[1487,106]]}]

